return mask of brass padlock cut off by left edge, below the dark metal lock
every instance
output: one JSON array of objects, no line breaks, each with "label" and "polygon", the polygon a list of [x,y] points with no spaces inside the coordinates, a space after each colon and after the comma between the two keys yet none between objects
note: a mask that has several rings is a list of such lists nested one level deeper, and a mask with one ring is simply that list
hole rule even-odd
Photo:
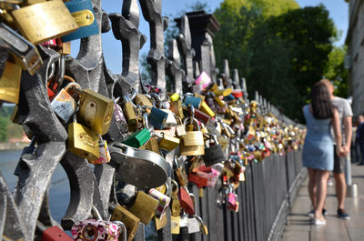
[{"label": "brass padlock cut off by left edge, below the dark metal lock", "polygon": [[3,75],[0,77],[0,101],[15,104],[19,102],[21,75],[20,65],[6,61]]}]

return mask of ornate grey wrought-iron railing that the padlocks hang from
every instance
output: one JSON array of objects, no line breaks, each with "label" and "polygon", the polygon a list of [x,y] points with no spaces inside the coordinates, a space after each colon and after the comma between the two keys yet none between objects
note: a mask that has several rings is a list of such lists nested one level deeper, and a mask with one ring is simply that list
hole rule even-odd
[{"label": "ornate grey wrought-iron railing that the padlocks hang from", "polygon": [[[182,94],[185,88],[192,86],[197,75],[205,71],[213,81],[224,83],[226,87],[241,88],[248,96],[245,80],[238,77],[238,70],[233,70],[234,75],[230,78],[227,61],[222,78],[217,78],[213,33],[218,30],[219,24],[213,15],[194,12],[177,19],[181,34],[177,39],[170,40],[168,56],[165,56],[163,31],[167,18],[160,14],[161,0],[138,2],[150,25],[151,48],[147,62],[151,65],[151,85],[165,90],[168,75],[172,81],[172,91]],[[92,3],[100,33],[81,40],[79,55],[75,59],[70,56],[66,58],[66,75],[75,78],[83,88],[91,88],[109,97],[126,95],[133,88],[143,91],[138,61],[145,36],[138,31],[140,10],[137,1],[124,0],[122,14],[109,14],[108,18],[103,17],[107,14],[102,11],[101,0],[93,0]],[[102,52],[101,35],[111,29],[109,19],[116,39],[123,45],[121,75],[113,75],[107,70]],[[42,46],[38,46],[38,49],[44,65],[36,75],[23,71],[17,116],[19,124],[27,126],[37,138],[36,155],[22,156],[22,168],[13,194],[0,176],[0,233],[12,240],[33,240],[38,219],[45,226],[59,225],[52,218],[48,205],[48,189],[58,164],[66,170],[71,189],[71,200],[61,222],[66,230],[75,222],[91,216],[92,206],[96,206],[101,216],[107,218],[108,203],[115,201],[115,169],[107,165],[92,169],[86,159],[66,150],[66,129],[52,111],[45,86],[48,69],[60,55]],[[261,96],[257,101],[281,121],[293,123]],[[113,133],[112,124],[106,135],[109,141],[116,140],[117,136],[113,136]],[[289,205],[297,196],[304,176],[300,151],[288,152],[286,156],[272,155],[262,163],[251,163],[245,173],[246,181],[237,189],[240,202],[238,213],[226,208],[219,209],[218,190],[206,189],[204,196],[197,198],[197,215],[205,220],[209,235],[172,237],[168,222],[165,228],[157,232],[158,240],[279,240]],[[189,189],[198,196],[196,186],[189,186]],[[170,216],[169,211],[167,216]],[[135,240],[145,240],[144,225],[139,226]]]}]

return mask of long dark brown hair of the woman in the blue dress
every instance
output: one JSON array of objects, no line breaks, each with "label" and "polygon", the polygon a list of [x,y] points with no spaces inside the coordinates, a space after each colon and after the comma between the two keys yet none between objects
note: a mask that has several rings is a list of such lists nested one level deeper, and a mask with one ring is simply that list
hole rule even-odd
[{"label": "long dark brown hair of the woman in the blue dress", "polygon": [[316,119],[328,119],[334,116],[329,89],[323,83],[316,83],[311,89],[312,115]]}]

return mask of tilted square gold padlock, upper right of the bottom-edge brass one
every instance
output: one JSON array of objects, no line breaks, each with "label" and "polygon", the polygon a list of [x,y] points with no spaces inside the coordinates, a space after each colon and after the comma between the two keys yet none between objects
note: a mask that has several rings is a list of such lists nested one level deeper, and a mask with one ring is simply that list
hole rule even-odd
[{"label": "tilted square gold padlock, upper right of the bottom-edge brass one", "polygon": [[130,207],[130,212],[137,216],[140,219],[140,222],[147,226],[155,215],[158,205],[159,201],[155,197],[138,191],[136,201],[134,205]]}]

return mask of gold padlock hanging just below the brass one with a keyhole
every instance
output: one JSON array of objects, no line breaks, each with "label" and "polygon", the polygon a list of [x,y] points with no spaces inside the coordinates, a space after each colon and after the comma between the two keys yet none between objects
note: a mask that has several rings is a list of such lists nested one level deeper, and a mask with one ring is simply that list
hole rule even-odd
[{"label": "gold padlock hanging just below the brass one with a keyhole", "polygon": [[68,149],[89,161],[96,161],[100,157],[96,132],[76,123],[76,114],[74,122],[68,125]]}]

